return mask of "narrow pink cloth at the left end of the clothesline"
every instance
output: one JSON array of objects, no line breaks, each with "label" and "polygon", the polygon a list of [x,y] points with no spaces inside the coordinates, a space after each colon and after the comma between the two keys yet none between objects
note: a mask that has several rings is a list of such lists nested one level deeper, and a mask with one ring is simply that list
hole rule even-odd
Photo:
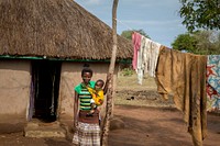
[{"label": "narrow pink cloth at the left end of the clothesline", "polygon": [[136,61],[138,61],[138,50],[140,49],[141,47],[141,38],[142,38],[142,35],[134,32],[132,34],[132,43],[133,43],[133,59],[132,59],[132,66],[133,66],[133,69],[136,70]]}]

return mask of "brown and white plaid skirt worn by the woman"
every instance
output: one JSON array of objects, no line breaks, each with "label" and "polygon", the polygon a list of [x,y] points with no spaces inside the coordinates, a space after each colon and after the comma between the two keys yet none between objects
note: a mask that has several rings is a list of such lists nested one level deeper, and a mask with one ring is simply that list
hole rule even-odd
[{"label": "brown and white plaid skirt worn by the woman", "polygon": [[78,126],[74,133],[73,144],[79,146],[100,146],[99,124],[78,122]]}]

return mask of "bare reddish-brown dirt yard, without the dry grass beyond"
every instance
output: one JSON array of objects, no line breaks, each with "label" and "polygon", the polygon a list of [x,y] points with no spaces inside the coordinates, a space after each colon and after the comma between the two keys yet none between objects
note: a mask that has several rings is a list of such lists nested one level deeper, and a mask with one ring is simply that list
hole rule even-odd
[{"label": "bare reddish-brown dirt yard, without the dry grass beyond", "polygon": [[[182,113],[173,108],[116,105],[114,119],[124,125],[110,131],[109,146],[193,146]],[[208,114],[204,146],[220,144],[220,116]],[[70,146],[63,138],[28,138],[22,133],[1,134],[0,146]]]}]

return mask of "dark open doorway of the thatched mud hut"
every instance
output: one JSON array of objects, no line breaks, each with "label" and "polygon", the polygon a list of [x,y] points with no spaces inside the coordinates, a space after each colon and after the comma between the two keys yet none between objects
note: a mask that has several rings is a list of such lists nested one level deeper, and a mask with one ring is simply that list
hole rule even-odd
[{"label": "dark open doorway of the thatched mud hut", "polygon": [[32,61],[32,97],[30,119],[56,121],[61,79],[61,61]]}]

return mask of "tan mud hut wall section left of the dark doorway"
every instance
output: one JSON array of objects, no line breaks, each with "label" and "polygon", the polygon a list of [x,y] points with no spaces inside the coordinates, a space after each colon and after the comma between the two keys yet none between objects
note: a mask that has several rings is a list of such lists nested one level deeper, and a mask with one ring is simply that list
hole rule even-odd
[{"label": "tan mud hut wall section left of the dark doorway", "polygon": [[26,122],[30,100],[30,61],[0,60],[0,131],[16,131]]}]

